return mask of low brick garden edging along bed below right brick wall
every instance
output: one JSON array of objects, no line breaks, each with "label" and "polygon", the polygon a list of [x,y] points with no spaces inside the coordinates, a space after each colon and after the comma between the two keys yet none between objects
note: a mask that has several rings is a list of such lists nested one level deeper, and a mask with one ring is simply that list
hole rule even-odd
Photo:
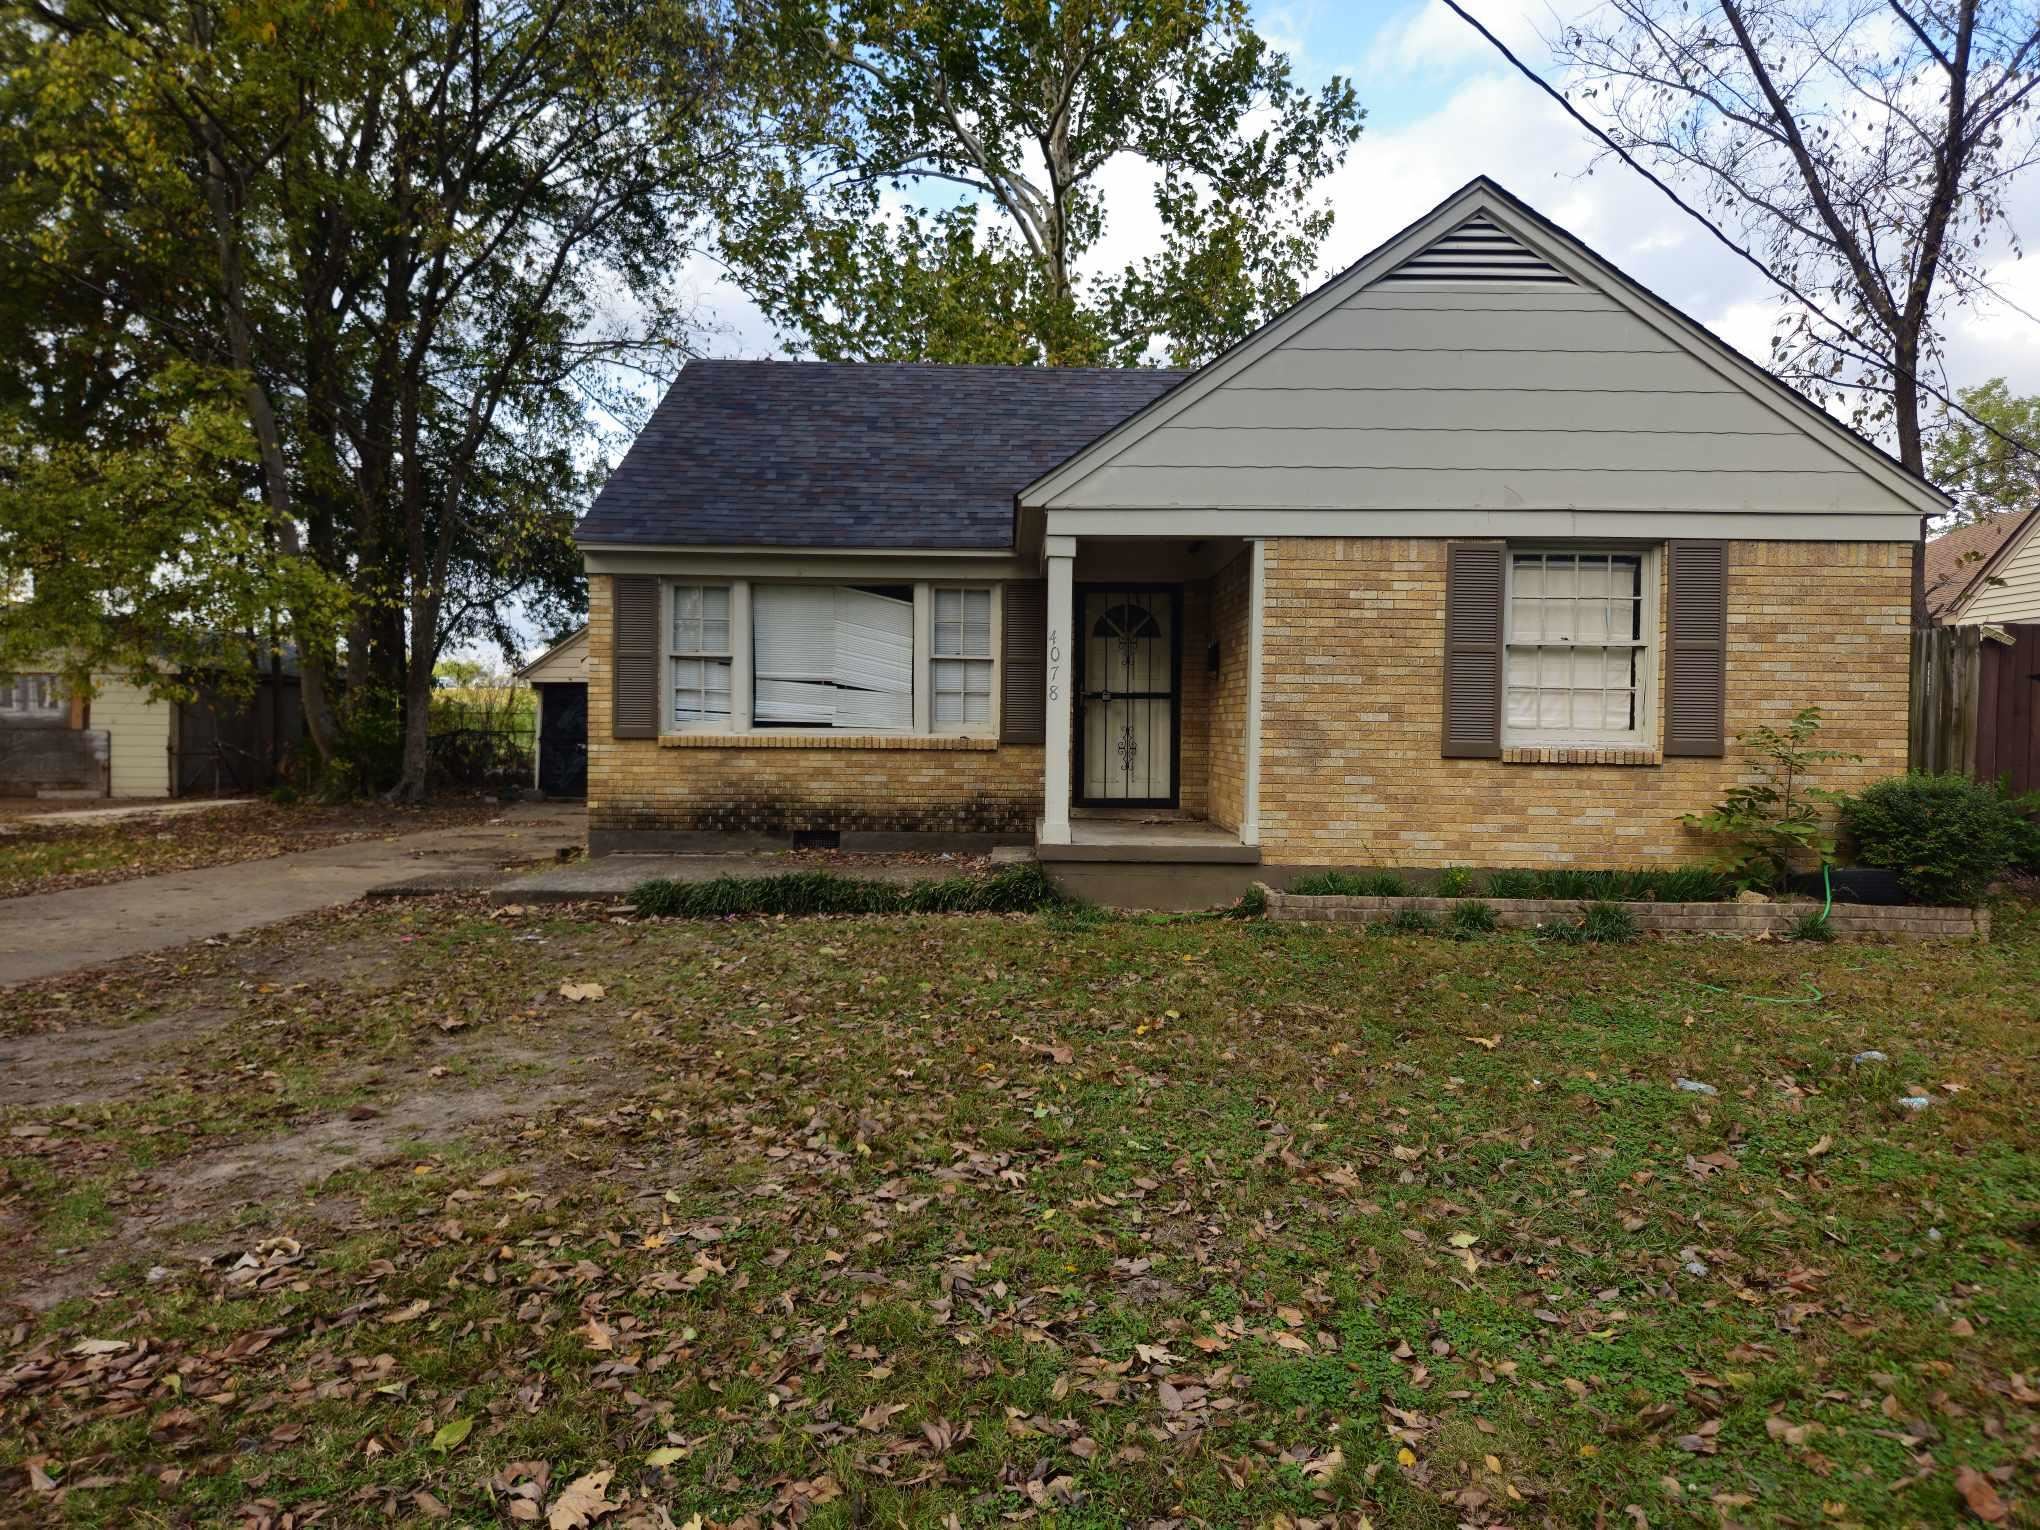
[{"label": "low brick garden edging along bed below right brick wall", "polygon": [[[1320,920],[1330,924],[1379,924],[1401,908],[1416,908],[1444,924],[1457,904],[1479,902],[1495,910],[1495,924],[1528,930],[1538,924],[1567,924],[1579,918],[1579,902],[1567,898],[1346,898],[1275,891],[1259,885],[1269,900],[1271,920]],[[1656,934],[1791,934],[1791,926],[1816,912],[1814,904],[1618,904],[1638,930]],[[1903,904],[1836,904],[1828,914],[1836,940],[1962,940],[1991,934],[1987,908],[1932,908]]]}]

